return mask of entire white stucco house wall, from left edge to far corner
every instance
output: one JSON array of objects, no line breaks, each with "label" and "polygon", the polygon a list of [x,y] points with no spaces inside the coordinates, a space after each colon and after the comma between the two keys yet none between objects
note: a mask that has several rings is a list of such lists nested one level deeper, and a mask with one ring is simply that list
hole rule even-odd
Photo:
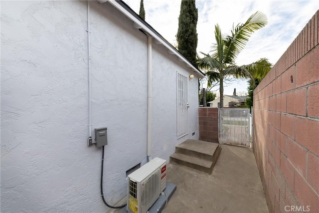
[{"label": "entire white stucco house wall, from left edge to far corner", "polygon": [[[109,3],[90,1],[92,136],[108,128],[104,196],[126,196],[147,162],[147,37]],[[1,2],[1,212],[106,212],[101,148],[87,146],[86,1]],[[190,68],[153,42],[152,157],[198,138],[198,78],[189,134],[176,137],[176,73]],[[195,135],[192,136],[192,132]]]}]

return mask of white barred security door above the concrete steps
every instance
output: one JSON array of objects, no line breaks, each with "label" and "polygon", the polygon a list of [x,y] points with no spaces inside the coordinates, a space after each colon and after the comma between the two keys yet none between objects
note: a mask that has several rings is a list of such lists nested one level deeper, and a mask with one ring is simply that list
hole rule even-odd
[{"label": "white barred security door above the concrete steps", "polygon": [[177,73],[177,138],[188,134],[187,77]]}]

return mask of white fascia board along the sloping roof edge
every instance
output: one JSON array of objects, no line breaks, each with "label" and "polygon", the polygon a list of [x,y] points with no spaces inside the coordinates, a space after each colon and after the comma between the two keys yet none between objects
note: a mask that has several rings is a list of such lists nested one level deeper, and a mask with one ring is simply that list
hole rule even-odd
[{"label": "white fascia board along the sloping roof edge", "polygon": [[137,26],[137,25],[140,26],[142,29],[144,29],[145,32],[150,34],[153,38],[155,38],[157,41],[159,41],[160,44],[165,46],[168,49],[168,51],[173,52],[178,57],[178,60],[185,62],[186,66],[193,69],[193,71],[196,72],[200,76],[200,78],[205,77],[205,75],[203,73],[199,72],[188,60],[186,60],[183,56],[181,56],[180,52],[178,52],[175,48],[172,48],[171,46],[169,46],[164,40],[162,40],[157,34],[155,34],[143,22],[141,22],[139,19],[134,17],[134,15],[132,15],[130,12],[128,12],[125,8],[123,8],[122,5],[119,4],[116,0],[98,0],[99,3],[104,3],[107,1],[110,2],[115,8],[120,10],[123,14],[125,14],[128,18],[130,18],[135,23],[135,26]]}]

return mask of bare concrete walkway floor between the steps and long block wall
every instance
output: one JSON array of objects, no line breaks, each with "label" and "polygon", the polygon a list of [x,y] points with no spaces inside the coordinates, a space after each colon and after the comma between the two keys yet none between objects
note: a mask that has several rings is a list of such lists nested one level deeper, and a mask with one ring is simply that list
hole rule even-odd
[{"label": "bare concrete walkway floor between the steps and long block wall", "polygon": [[221,146],[212,174],[168,163],[177,189],[162,213],[268,213],[253,150]]}]

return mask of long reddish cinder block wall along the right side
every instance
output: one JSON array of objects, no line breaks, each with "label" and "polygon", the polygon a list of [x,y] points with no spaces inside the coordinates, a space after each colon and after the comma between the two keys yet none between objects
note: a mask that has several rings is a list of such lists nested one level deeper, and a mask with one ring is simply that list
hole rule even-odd
[{"label": "long reddish cinder block wall along the right side", "polygon": [[254,153],[270,212],[319,212],[318,13],[254,91]]}]

